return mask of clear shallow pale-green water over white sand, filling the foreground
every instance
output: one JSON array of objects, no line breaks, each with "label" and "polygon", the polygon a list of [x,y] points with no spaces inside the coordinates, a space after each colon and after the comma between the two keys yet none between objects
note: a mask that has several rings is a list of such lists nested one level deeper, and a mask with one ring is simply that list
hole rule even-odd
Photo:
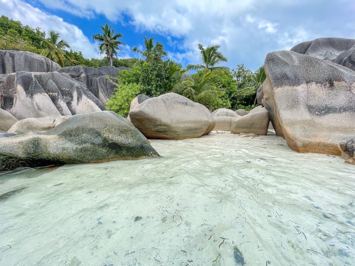
[{"label": "clear shallow pale-green water over white sand, filling the foreground", "polygon": [[355,265],[354,165],[276,136],[152,146],[2,174],[0,265]]}]

